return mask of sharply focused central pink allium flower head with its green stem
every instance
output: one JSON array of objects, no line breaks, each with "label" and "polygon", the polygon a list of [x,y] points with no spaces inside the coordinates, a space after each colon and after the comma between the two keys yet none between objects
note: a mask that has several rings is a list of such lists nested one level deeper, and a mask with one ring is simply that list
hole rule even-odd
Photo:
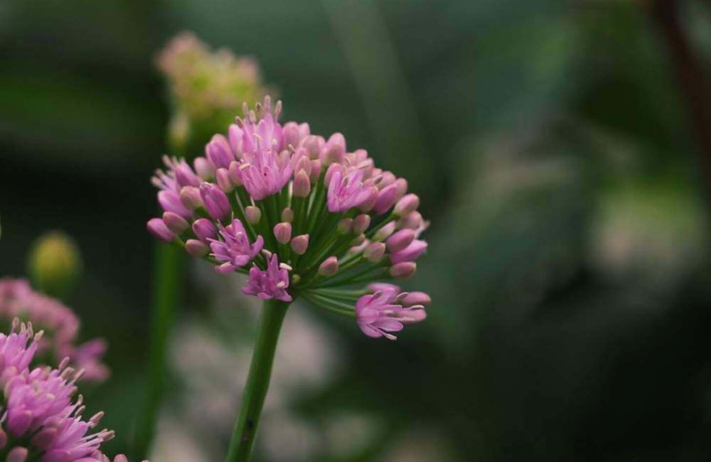
[{"label": "sharply focused central pink allium flower head with its green stem", "polygon": [[[308,123],[279,123],[271,100],[217,134],[193,167],[164,158],[152,182],[164,210],[147,227],[161,241],[215,263],[218,273],[248,275],[242,292],[264,300],[255,351],[228,462],[252,453],[274,351],[287,308],[301,297],[353,317],[370,337],[394,340],[422,321],[430,299],[401,292],[427,250],[428,222],[407,181],[375,167],[346,139],[311,135]],[[249,268],[247,270],[247,268]]]}]

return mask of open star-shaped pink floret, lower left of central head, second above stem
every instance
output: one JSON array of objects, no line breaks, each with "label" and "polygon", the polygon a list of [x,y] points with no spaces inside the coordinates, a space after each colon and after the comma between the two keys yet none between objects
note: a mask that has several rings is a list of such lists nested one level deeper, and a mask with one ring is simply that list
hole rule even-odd
[{"label": "open star-shaped pink floret, lower left of central head, second above stem", "polygon": [[233,219],[231,224],[223,226],[218,224],[220,237],[222,240],[208,239],[213,256],[225,262],[215,267],[218,273],[232,273],[237,268],[250,263],[257,253],[262,251],[264,238],[257,236],[255,243],[250,244],[245,226],[239,219]]}]

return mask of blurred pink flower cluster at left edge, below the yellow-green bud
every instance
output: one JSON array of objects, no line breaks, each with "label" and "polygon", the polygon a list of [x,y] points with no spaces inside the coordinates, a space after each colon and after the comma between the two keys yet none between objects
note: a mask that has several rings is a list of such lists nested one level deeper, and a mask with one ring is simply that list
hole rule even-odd
[{"label": "blurred pink flower cluster at left edge, below the yellow-green bud", "polygon": [[84,380],[108,378],[109,368],[102,363],[106,341],[93,339],[77,345],[81,323],[76,314],[62,302],[32,290],[27,280],[0,278],[0,317],[7,322],[15,317],[26,319],[45,329],[50,335],[40,342],[38,354],[51,353],[55,361],[70,358],[75,368],[85,370]]}]

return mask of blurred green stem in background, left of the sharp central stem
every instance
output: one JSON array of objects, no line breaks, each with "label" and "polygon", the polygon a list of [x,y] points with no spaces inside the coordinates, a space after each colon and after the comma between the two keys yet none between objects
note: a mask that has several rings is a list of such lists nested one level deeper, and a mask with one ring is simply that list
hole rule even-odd
[{"label": "blurred green stem in background, left of the sharp central stem", "polygon": [[154,292],[151,304],[150,382],[146,402],[139,417],[134,457],[148,456],[156,431],[156,419],[163,401],[166,383],[166,350],[181,285],[183,252],[181,248],[156,243]]}]

